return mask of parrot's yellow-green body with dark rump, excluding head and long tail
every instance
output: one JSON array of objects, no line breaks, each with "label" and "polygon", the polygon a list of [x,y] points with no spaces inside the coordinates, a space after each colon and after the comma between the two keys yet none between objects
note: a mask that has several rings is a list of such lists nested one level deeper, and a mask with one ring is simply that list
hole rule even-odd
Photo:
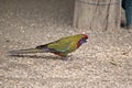
[{"label": "parrot's yellow-green body with dark rump, excluding head and long tail", "polygon": [[81,35],[74,35],[74,36],[67,36],[67,37],[62,37],[58,41],[45,44],[45,45],[40,45],[37,46],[41,48],[48,48],[48,52],[52,53],[61,53],[62,55],[67,55],[68,53],[74,52],[77,50],[77,43]]}]

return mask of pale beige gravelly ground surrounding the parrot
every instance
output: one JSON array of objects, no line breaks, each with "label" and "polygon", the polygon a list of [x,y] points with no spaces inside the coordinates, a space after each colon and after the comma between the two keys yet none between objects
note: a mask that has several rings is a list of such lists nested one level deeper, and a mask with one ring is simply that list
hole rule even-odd
[{"label": "pale beige gravelly ground surrounding the parrot", "polygon": [[86,30],[88,43],[62,61],[53,54],[10,56],[62,36],[74,0],[0,0],[0,88],[132,88],[132,33]]}]

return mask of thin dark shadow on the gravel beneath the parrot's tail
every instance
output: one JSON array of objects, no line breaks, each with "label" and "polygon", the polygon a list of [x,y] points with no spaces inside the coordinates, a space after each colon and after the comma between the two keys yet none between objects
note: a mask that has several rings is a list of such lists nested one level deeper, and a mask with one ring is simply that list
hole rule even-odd
[{"label": "thin dark shadow on the gravel beneath the parrot's tail", "polygon": [[11,57],[26,57],[26,58],[44,58],[44,59],[62,59],[59,56],[40,56],[40,55],[29,55],[29,54],[21,54],[21,55],[9,55]]}]

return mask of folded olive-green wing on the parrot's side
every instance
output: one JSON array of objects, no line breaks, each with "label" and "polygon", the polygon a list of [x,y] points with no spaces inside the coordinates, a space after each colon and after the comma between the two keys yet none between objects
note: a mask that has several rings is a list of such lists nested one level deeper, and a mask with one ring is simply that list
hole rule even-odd
[{"label": "folded olive-green wing on the parrot's side", "polygon": [[72,42],[73,41],[70,38],[61,38],[58,41],[50,43],[47,47],[58,53],[66,53],[70,48]]}]

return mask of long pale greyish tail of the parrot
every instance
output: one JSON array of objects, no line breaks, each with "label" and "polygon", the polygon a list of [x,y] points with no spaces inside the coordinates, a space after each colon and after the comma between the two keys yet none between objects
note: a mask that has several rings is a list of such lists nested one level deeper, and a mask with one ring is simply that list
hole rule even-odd
[{"label": "long pale greyish tail of the parrot", "polygon": [[14,50],[14,51],[10,51],[9,53],[12,55],[16,55],[16,54],[29,54],[29,53],[44,53],[44,51],[38,48],[28,48],[28,50]]}]

